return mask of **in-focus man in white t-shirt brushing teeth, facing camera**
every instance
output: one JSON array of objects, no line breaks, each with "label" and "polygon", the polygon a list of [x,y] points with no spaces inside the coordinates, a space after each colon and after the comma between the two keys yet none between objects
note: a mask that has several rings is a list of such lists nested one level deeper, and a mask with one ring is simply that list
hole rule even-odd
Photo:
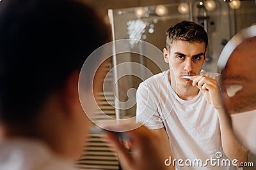
[{"label": "in-focus man in white t-shirt brushing teeth, facing camera", "polygon": [[[217,153],[223,154],[218,159],[226,159],[225,154],[240,162],[247,158],[232,134],[217,81],[200,75],[207,55],[207,33],[200,25],[182,21],[170,27],[166,36],[163,53],[170,70],[140,84],[137,120],[170,142],[163,144],[166,152],[183,160],[176,162],[176,169],[232,169],[202,166],[207,159],[216,159]],[[187,159],[203,163],[184,164]]]}]

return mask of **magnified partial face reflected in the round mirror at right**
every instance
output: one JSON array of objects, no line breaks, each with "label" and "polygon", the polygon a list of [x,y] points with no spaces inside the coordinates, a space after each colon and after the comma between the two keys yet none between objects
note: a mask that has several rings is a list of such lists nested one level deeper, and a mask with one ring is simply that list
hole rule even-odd
[{"label": "magnified partial face reflected in the round mirror at right", "polygon": [[[222,71],[222,97],[229,114],[256,110],[256,37],[246,39],[230,55]],[[229,85],[243,85],[234,97],[227,96]]]}]

